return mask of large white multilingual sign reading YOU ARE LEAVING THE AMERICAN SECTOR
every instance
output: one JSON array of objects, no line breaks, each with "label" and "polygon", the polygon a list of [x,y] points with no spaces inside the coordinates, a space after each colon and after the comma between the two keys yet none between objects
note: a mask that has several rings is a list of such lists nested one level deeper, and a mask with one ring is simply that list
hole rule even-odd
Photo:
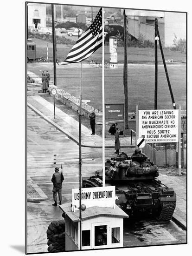
[{"label": "large white multilingual sign reading YOU ARE LEAVING THE AMERICAN SECTOR", "polygon": [[178,142],[178,109],[139,110],[138,122],[138,137],[146,142]]}]

